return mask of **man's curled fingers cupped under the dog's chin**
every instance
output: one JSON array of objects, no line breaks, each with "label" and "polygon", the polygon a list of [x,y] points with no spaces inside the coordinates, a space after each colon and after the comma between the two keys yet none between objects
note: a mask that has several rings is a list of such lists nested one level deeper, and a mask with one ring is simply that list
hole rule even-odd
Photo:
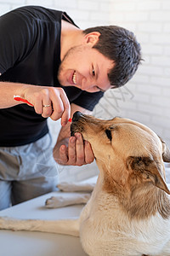
[{"label": "man's curled fingers cupped under the dog's chin", "polygon": [[60,165],[82,166],[94,161],[94,153],[90,143],[83,142],[82,134],[77,132],[75,137],[69,138],[68,147],[65,145],[60,146],[59,157],[56,161]]}]

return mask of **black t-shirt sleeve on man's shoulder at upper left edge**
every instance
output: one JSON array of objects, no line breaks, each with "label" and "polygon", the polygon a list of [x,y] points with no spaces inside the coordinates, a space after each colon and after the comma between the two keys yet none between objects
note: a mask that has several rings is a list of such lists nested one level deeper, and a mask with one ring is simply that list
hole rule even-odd
[{"label": "black t-shirt sleeve on man's shoulder at upper left edge", "polygon": [[20,13],[20,9],[0,17],[1,74],[26,56],[34,42],[34,30],[35,27]]}]

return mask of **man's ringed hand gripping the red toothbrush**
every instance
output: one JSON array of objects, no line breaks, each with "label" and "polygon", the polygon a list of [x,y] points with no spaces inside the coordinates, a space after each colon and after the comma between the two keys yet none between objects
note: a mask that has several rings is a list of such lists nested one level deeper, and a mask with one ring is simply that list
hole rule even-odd
[{"label": "man's ringed hand gripping the red toothbrush", "polygon": [[65,125],[70,118],[70,102],[62,88],[30,85],[25,88],[23,96],[44,118],[61,118],[61,125]]}]

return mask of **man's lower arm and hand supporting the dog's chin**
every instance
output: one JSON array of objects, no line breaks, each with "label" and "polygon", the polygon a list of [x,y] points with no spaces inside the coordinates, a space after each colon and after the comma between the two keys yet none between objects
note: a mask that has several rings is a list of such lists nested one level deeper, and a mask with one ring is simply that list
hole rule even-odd
[{"label": "man's lower arm and hand supporting the dog's chin", "polygon": [[[82,113],[91,114],[85,108],[76,104],[71,104],[71,118],[73,113],[81,111]],[[60,165],[65,166],[82,166],[94,161],[94,153],[90,143],[83,142],[81,133],[77,132],[75,137],[71,136],[71,123],[67,123],[61,128],[57,143],[54,146],[54,160]]]}]

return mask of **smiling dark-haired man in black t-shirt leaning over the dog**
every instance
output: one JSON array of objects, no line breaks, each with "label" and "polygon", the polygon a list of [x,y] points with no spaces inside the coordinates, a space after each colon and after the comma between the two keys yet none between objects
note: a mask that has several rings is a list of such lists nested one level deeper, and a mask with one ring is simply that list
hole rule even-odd
[{"label": "smiling dark-haired man in black t-shirt leaning over the dog", "polygon": [[[82,31],[62,11],[26,6],[0,17],[0,209],[55,189],[55,161],[82,166],[92,148],[68,119],[91,113],[105,90],[127,83],[140,46],[118,26]],[[14,101],[24,98],[29,104]],[[33,106],[33,107],[32,107]],[[61,119],[51,148],[47,118]],[[53,157],[52,157],[53,155]],[[37,167],[37,163],[39,164]]]}]

